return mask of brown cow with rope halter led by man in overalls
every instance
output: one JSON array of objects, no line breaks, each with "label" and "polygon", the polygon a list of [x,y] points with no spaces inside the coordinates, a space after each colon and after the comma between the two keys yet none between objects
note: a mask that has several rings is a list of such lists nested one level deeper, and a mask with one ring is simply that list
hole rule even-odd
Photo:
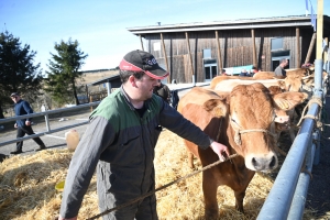
[{"label": "brown cow with rope halter led by man in overalls", "polygon": [[[216,195],[220,185],[227,185],[234,190],[235,207],[243,212],[245,190],[255,170],[271,170],[277,166],[273,138],[274,110],[279,107],[292,109],[301,99],[300,92],[272,96],[262,84],[240,85],[230,94],[220,95],[195,87],[182,98],[178,111],[213,140],[226,144],[231,154],[239,155],[204,172],[202,190],[207,219],[218,218]],[[199,150],[191,142],[185,143],[202,166],[219,160],[210,148]]]}]

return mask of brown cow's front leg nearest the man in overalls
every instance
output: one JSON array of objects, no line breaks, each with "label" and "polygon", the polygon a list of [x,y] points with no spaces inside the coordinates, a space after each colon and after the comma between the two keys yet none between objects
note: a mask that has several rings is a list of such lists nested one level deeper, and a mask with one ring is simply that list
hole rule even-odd
[{"label": "brown cow's front leg nearest the man in overalls", "polygon": [[218,185],[216,179],[212,178],[212,173],[206,170],[202,175],[202,191],[205,199],[205,218],[208,219],[218,219],[219,207],[217,200],[217,189]]}]

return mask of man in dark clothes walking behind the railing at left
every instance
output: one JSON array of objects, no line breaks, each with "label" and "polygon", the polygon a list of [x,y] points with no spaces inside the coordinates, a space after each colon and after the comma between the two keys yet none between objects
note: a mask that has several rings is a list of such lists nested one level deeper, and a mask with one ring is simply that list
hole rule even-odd
[{"label": "man in dark clothes walking behind the railing at left", "polygon": [[[23,99],[21,99],[20,94],[13,92],[10,95],[11,99],[15,103],[14,106],[14,111],[15,116],[24,116],[24,114],[30,114],[33,113],[33,110],[30,106],[30,103]],[[14,128],[18,129],[18,134],[16,138],[23,138],[25,134],[32,135],[34,134],[33,129],[31,127],[31,119],[19,119],[16,120],[16,123],[14,124]],[[44,142],[40,138],[34,138],[33,141],[38,145],[38,148],[34,151],[41,151],[45,150],[46,146]],[[10,152],[11,154],[21,154],[23,153],[22,151],[23,147],[23,142],[16,142],[16,150],[13,152]]]}]

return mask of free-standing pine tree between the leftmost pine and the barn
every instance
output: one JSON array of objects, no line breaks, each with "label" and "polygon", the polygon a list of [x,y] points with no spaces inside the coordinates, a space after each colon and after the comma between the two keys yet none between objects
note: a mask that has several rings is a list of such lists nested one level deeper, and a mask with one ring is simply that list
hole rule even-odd
[{"label": "free-standing pine tree between the leftmost pine and the barn", "polygon": [[79,69],[88,55],[85,55],[78,46],[78,41],[73,42],[69,38],[68,42],[55,43],[54,48],[57,54],[51,53],[52,59],[47,65],[50,72],[46,72],[48,79],[46,80],[45,90],[51,92],[59,105],[69,103],[73,98],[76,105],[79,105],[76,80],[82,75]]}]

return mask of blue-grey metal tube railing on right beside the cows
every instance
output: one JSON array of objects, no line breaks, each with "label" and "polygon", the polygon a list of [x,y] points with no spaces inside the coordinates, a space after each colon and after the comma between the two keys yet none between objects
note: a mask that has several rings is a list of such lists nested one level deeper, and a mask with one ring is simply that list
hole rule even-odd
[{"label": "blue-grey metal tube railing on right beside the cows", "polygon": [[[322,67],[322,61],[316,59],[314,96],[320,99],[323,98],[321,67]],[[307,114],[317,118],[319,111],[321,111],[320,108],[321,107],[318,103],[312,103],[310,105]],[[295,195],[296,198],[301,197],[305,194],[307,195],[309,179],[301,176],[298,183],[298,177],[300,176],[300,168],[304,160],[306,158],[307,161],[312,161],[312,158],[309,157],[315,155],[315,152],[306,154],[307,148],[310,147],[311,145],[311,139],[312,139],[311,135],[315,130],[315,124],[316,121],[314,121],[312,119],[307,118],[304,120],[300,131],[298,132],[297,138],[295,139],[294,144],[292,145],[288,155],[286,156],[286,160],[284,161],[283,166],[268,194],[268,197],[257,216],[258,220],[288,219],[288,215],[292,206],[293,206],[292,209],[293,216],[295,217],[302,216],[304,209],[301,208],[301,206],[305,207],[305,201],[301,202],[301,200],[299,199],[294,200],[294,195],[296,194]],[[311,150],[315,151],[315,147]],[[310,165],[310,170],[311,167],[312,167],[312,163]],[[302,187],[305,188],[302,189]],[[300,207],[300,208],[295,209],[295,207],[296,208]],[[297,211],[299,211],[300,213],[294,213]]]}]

